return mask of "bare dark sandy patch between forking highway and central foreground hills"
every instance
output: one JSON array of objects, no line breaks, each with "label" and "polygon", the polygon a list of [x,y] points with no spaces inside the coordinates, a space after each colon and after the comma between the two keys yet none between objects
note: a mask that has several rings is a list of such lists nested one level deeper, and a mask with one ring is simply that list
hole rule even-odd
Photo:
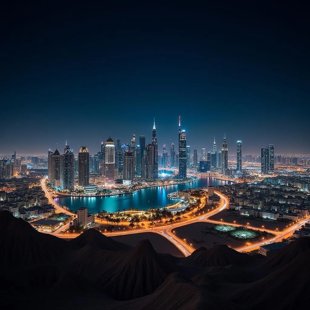
[{"label": "bare dark sandy patch between forking highway and central foreground hills", "polygon": [[162,237],[157,233],[142,232],[132,235],[114,236],[110,238],[114,239],[115,241],[129,244],[131,246],[136,246],[139,241],[148,239],[152,243],[153,248],[157,253],[170,253],[174,256],[184,257],[183,253],[176,246],[174,246],[165,237]]}]

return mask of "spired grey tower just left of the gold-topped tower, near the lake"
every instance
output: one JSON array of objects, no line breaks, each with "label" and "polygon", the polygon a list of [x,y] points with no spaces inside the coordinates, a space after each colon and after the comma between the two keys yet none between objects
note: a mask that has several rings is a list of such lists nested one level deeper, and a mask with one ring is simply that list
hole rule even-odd
[{"label": "spired grey tower just left of the gold-topped tower, near the lake", "polygon": [[69,145],[66,145],[64,153],[60,156],[60,187],[74,189],[74,154]]}]

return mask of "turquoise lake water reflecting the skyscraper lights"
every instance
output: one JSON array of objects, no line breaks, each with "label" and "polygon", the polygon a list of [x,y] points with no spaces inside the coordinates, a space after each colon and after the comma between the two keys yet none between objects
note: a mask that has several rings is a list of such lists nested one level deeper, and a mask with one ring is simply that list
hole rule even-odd
[{"label": "turquoise lake water reflecting the skyscraper lights", "polygon": [[177,192],[186,188],[204,188],[208,186],[230,184],[229,181],[216,180],[213,177],[200,177],[197,181],[187,184],[168,185],[160,187],[142,188],[134,194],[123,194],[115,196],[99,196],[99,197],[60,197],[55,201],[60,206],[67,206],[69,209],[76,211],[78,208],[87,207],[88,212],[97,213],[106,210],[107,212],[115,212],[117,210],[128,210],[135,208],[139,210],[147,210],[149,208],[164,207],[173,201],[167,197],[171,192]]}]

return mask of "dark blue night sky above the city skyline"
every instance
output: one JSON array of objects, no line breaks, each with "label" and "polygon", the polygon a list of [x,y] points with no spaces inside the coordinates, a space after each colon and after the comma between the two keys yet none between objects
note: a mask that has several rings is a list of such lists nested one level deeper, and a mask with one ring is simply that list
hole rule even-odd
[{"label": "dark blue night sky above the city skyline", "polygon": [[179,115],[191,152],[310,153],[309,7],[24,3],[0,13],[0,153],[150,143],[153,117],[177,150]]}]

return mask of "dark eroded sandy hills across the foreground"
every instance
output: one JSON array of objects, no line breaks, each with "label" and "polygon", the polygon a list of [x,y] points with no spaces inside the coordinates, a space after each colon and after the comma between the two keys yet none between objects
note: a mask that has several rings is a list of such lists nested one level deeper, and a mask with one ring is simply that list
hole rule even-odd
[{"label": "dark eroded sandy hills across the foreground", "polygon": [[292,309],[309,301],[308,237],[267,258],[224,245],[177,258],[95,229],[64,241],[1,211],[0,253],[5,309]]}]

